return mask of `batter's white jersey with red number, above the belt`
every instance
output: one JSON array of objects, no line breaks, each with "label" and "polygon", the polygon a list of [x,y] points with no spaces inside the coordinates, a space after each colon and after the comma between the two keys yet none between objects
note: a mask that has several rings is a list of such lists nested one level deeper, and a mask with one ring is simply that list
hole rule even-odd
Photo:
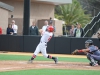
[{"label": "batter's white jersey with red number, above the belt", "polygon": [[48,31],[45,31],[41,37],[41,40],[40,42],[45,42],[47,43],[53,36],[53,33],[52,32],[48,32]]}]

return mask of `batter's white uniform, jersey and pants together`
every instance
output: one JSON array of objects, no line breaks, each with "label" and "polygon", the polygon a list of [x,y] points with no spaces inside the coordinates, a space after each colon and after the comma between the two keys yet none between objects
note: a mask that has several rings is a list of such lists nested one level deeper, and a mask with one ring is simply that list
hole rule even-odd
[{"label": "batter's white uniform, jersey and pants together", "polygon": [[39,52],[43,54],[44,57],[48,57],[48,54],[46,52],[47,48],[47,42],[52,38],[53,33],[45,31],[40,39],[40,43],[36,47],[36,50],[34,52],[34,55],[37,55]]}]

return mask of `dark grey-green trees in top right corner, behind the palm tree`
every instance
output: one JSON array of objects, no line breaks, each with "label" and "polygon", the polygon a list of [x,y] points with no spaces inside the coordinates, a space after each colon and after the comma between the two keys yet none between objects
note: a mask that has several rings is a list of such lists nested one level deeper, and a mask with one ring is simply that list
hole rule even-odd
[{"label": "dark grey-green trees in top right corner, behind the palm tree", "polygon": [[91,14],[91,17],[96,16],[100,11],[100,0],[78,0],[82,8],[87,10],[85,14]]}]

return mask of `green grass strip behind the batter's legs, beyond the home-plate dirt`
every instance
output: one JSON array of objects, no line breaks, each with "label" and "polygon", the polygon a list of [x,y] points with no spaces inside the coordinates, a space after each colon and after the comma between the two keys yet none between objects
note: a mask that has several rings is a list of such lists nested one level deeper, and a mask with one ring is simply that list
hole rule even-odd
[{"label": "green grass strip behind the batter's legs, beyond the home-plate dirt", "polygon": [[[31,56],[27,55],[8,55],[0,54],[0,60],[29,60]],[[43,56],[38,56],[36,61],[51,61],[50,59],[44,58]],[[68,61],[68,62],[88,62],[86,58],[70,58],[70,57],[59,57],[59,61]]]}]

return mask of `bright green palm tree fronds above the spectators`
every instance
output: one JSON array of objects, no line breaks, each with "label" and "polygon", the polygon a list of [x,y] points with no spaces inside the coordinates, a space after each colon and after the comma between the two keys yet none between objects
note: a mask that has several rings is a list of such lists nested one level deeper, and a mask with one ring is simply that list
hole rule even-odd
[{"label": "bright green palm tree fronds above the spectators", "polygon": [[60,5],[55,7],[55,18],[65,21],[67,26],[81,23],[85,26],[90,22],[90,15],[85,14],[79,1],[73,0],[72,4]]}]

